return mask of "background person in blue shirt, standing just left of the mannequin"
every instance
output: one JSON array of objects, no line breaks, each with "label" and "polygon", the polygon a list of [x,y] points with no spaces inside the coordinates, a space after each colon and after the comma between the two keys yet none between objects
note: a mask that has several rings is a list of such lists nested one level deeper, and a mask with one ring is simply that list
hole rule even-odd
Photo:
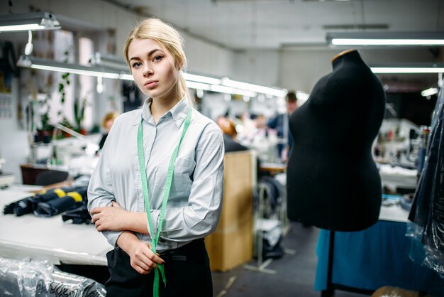
[{"label": "background person in blue shirt, standing just left of the mannequin", "polygon": [[[277,136],[280,139],[287,138],[287,146],[284,144],[277,145],[277,150],[282,161],[287,161],[289,151],[293,145],[293,137],[290,133],[288,118],[297,108],[296,92],[288,92],[287,96],[285,97],[285,102],[287,102],[287,117],[285,117],[285,114],[278,114],[276,117],[272,117],[272,119],[267,122],[267,126],[270,129],[277,130]],[[286,127],[286,129],[284,129],[284,126]],[[284,136],[285,131],[287,131],[287,136]]]}]

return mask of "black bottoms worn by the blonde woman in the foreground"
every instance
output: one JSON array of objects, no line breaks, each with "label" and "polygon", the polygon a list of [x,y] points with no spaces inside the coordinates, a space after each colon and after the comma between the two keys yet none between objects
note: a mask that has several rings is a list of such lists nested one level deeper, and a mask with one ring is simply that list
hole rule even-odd
[{"label": "black bottoms worn by the blonde woman in the foreground", "polygon": [[[209,257],[204,239],[196,239],[183,247],[162,252],[160,257],[165,261],[167,279],[165,287],[159,274],[160,297],[213,296]],[[139,274],[131,267],[128,254],[120,248],[108,252],[106,258],[111,274],[105,284],[107,297],[152,296],[154,271]]]}]

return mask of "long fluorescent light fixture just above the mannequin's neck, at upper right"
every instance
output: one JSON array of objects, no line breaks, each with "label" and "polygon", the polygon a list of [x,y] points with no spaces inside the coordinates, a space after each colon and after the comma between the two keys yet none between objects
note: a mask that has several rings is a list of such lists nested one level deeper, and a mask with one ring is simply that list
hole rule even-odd
[{"label": "long fluorescent light fixture just above the mannequin's neck, at upper right", "polygon": [[444,32],[327,33],[331,45],[444,45]]}]

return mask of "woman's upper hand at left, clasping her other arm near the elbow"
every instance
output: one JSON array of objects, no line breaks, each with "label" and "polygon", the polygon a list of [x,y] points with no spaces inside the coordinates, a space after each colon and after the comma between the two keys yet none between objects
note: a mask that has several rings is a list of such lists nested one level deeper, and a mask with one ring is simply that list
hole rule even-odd
[{"label": "woman's upper hand at left, clasping her other arm near the elbow", "polygon": [[91,222],[99,232],[122,231],[127,228],[128,211],[113,201],[111,206],[94,207],[91,210]]}]

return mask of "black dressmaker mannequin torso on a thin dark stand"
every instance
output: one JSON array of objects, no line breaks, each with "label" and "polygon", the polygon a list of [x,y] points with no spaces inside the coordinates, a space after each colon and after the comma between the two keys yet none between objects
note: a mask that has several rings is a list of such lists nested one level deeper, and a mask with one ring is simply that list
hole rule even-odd
[{"label": "black dressmaker mannequin torso on a thin dark stand", "polygon": [[287,215],[331,230],[333,256],[334,231],[366,229],[379,217],[381,180],[371,148],[384,118],[385,95],[357,50],[345,50],[332,63],[333,72],[316,83],[289,119]]}]

